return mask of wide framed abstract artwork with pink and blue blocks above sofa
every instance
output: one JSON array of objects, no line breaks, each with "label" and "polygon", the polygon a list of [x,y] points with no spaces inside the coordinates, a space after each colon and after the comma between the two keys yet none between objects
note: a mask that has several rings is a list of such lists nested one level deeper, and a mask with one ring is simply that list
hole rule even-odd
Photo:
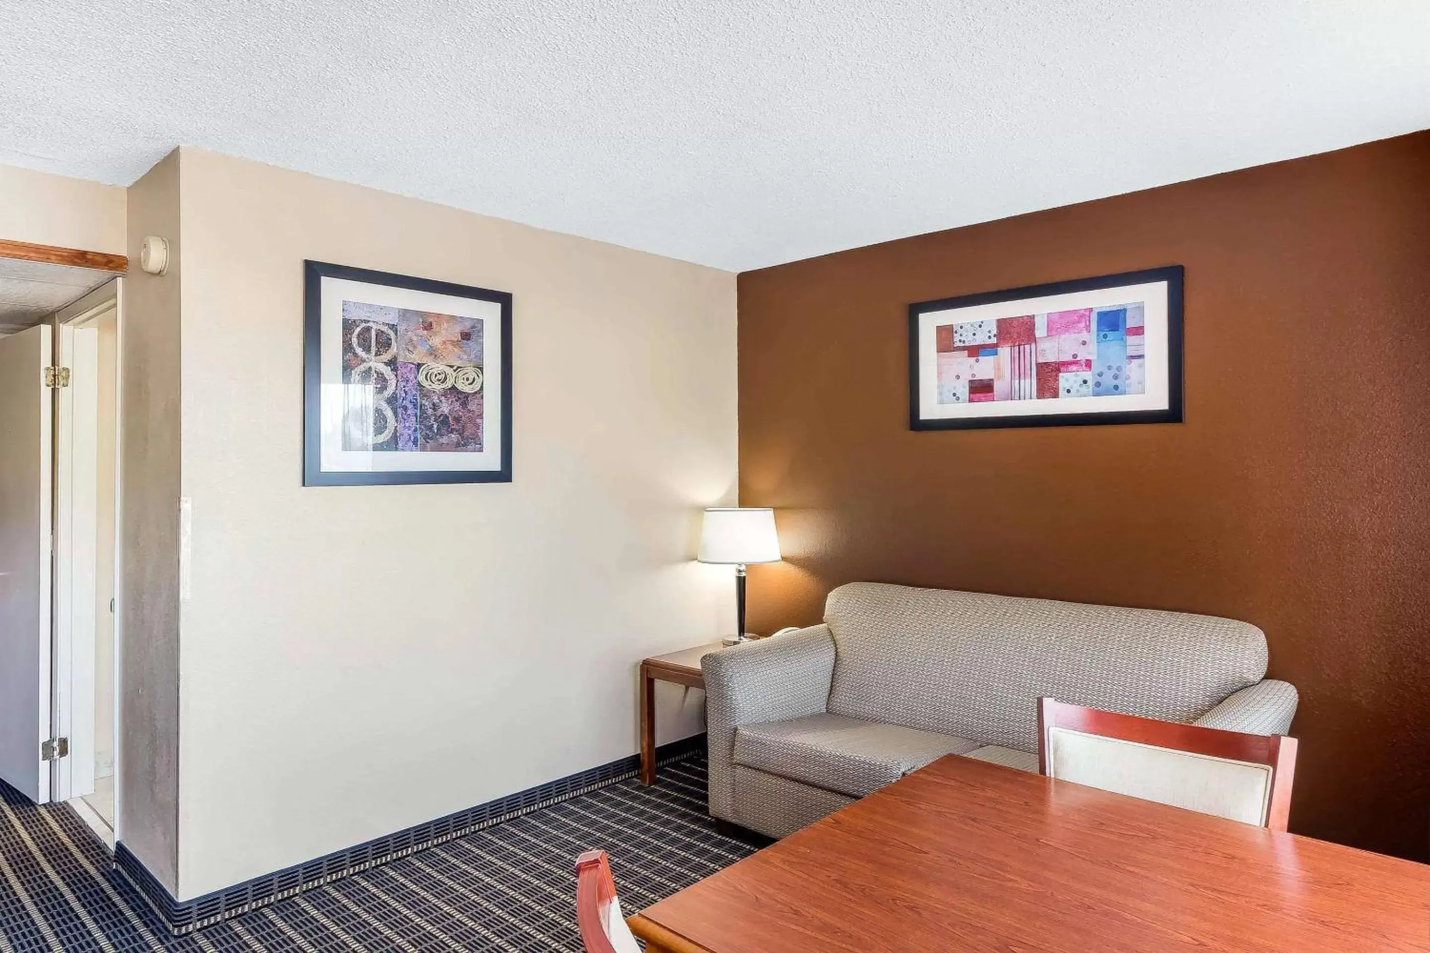
[{"label": "wide framed abstract artwork with pink and blue blocks above sofa", "polygon": [[909,429],[1181,423],[1181,266],[908,306]]}]

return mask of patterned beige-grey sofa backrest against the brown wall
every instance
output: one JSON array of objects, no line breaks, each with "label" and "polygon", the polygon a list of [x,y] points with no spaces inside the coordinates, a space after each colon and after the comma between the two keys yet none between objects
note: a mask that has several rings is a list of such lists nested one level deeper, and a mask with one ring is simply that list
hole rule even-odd
[{"label": "patterned beige-grey sofa backrest against the brown wall", "polygon": [[1266,674],[1266,636],[1214,616],[885,583],[829,593],[829,712],[1038,749],[1038,699],[1191,722]]}]

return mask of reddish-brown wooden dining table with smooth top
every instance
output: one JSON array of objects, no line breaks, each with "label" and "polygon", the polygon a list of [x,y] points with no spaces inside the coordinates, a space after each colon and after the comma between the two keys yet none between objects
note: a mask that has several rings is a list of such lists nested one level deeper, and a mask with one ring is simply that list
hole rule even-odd
[{"label": "reddish-brown wooden dining table with smooth top", "polygon": [[628,923],[648,953],[1424,952],[1430,866],[950,756]]}]

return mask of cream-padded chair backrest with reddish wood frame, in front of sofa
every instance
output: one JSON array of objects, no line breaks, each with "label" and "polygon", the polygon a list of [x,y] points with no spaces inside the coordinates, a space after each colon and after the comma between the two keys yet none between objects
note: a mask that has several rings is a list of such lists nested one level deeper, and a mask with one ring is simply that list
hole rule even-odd
[{"label": "cream-padded chair backrest with reddish wood frame, in front of sofa", "polygon": [[1077,784],[1286,830],[1296,739],[1038,700],[1038,770]]}]

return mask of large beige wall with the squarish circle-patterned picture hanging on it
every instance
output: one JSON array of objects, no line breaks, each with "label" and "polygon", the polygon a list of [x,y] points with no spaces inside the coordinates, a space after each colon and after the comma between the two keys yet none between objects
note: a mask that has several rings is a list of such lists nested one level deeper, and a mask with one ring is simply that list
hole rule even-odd
[{"label": "large beige wall with the squarish circle-patterned picture hanging on it", "polygon": [[[182,156],[179,896],[635,752],[636,662],[734,627],[735,276]],[[513,483],[302,486],[303,259],[515,294]]]}]

